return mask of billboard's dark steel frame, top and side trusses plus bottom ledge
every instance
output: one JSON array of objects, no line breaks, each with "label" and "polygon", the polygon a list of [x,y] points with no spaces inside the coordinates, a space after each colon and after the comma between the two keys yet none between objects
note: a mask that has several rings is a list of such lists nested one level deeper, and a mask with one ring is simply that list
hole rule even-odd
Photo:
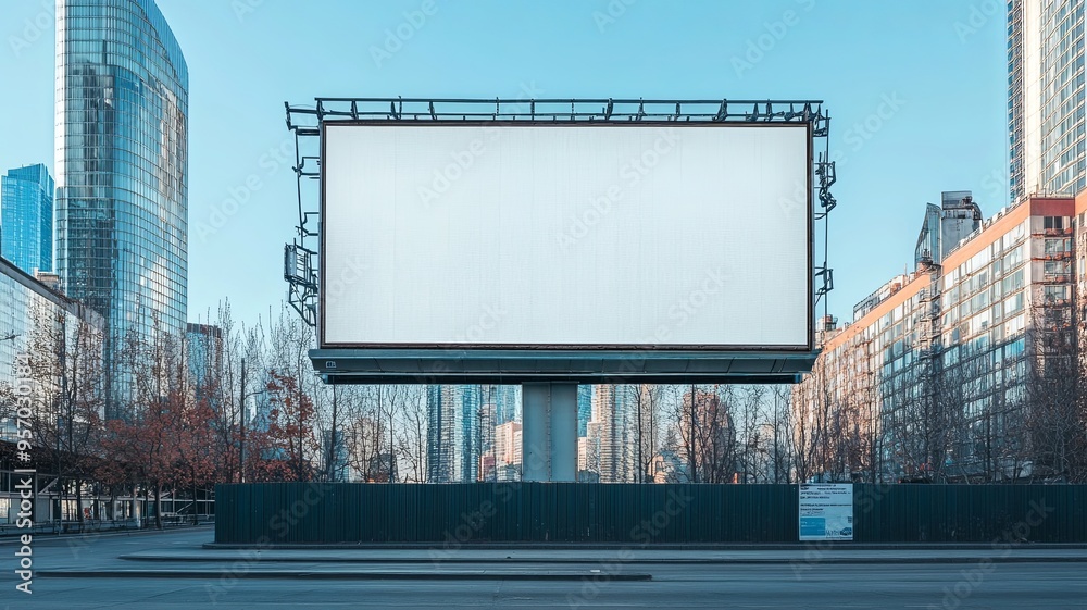
[{"label": "billboard's dark steel frame, top and side trusses plus bottom ledge", "polygon": [[[320,209],[318,194],[307,185],[321,179],[322,126],[340,121],[389,121],[426,123],[525,122],[546,125],[554,122],[602,123],[809,123],[812,137],[812,238],[822,231],[821,252],[813,252],[812,311],[834,288],[833,270],[827,260],[827,216],[837,202],[830,187],[837,179],[829,151],[830,116],[822,100],[646,100],[646,99],[457,99],[457,98],[316,98],[314,104],[285,102],[287,128],[295,136],[295,165],[298,196],[296,236],[284,249],[284,279],[288,283],[288,302],[307,324],[315,326],[320,302]],[[320,189],[317,189],[318,191]],[[815,204],[817,202],[817,206]],[[822,254],[820,260],[817,254]],[[409,350],[411,351],[411,350]],[[525,353],[473,350],[313,350],[315,369],[329,382],[340,383],[483,383],[501,378],[504,383],[525,381],[580,381],[605,383],[644,381],[684,383],[688,381],[792,382],[810,370],[814,353],[716,352],[687,356],[683,366],[669,366],[680,353],[653,350],[626,353],[596,353],[598,365],[572,366],[572,359],[586,354],[573,350]],[[503,357],[514,362],[501,375],[489,373],[492,363]],[[632,364],[637,362],[640,364]],[[623,366],[616,368],[616,362]],[[620,370],[622,369],[622,370]]]}]

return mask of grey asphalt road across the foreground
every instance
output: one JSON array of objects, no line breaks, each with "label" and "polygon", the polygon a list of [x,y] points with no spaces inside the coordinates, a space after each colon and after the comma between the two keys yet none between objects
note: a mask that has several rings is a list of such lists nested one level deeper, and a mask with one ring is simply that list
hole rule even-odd
[{"label": "grey asphalt road across the foreground", "polygon": [[[389,557],[388,562],[239,561],[226,556],[197,560],[200,544],[210,530],[165,534],[100,536],[95,539],[40,539],[34,546],[33,595],[15,590],[15,547],[0,544],[2,593],[5,610],[49,608],[988,608],[988,609],[1084,609],[1087,610],[1087,562],[1073,557],[1055,561],[986,563],[964,556],[927,551],[935,561],[924,563],[832,563],[833,553],[792,561],[738,563],[673,563],[666,558],[636,563],[616,563],[615,551],[596,550],[578,555],[565,551],[524,551],[513,562],[489,557],[435,565]],[[218,552],[218,551],[216,551]],[[759,551],[752,551],[758,553]],[[836,552],[836,551],[835,551]],[[178,559],[173,561],[171,555]],[[1083,556],[1087,551],[1078,551]],[[467,555],[467,553],[466,553]],[[879,555],[880,558],[888,553]],[[979,553],[984,555],[984,553]],[[1052,555],[1052,553],[1051,553]],[[129,559],[121,559],[129,556]],[[416,553],[417,557],[424,557]],[[697,552],[672,551],[671,557],[698,559]],[[140,558],[143,559],[140,559]],[[148,557],[157,557],[148,560]],[[316,556],[315,556],[316,557]],[[538,558],[534,560],[533,557]],[[755,555],[752,555],[755,557]],[[765,556],[764,556],[765,557]],[[776,557],[776,556],[775,556]],[[834,555],[834,557],[840,557]],[[355,559],[362,556],[357,553]],[[299,559],[299,558],[296,558]],[[462,557],[462,559],[467,559]],[[551,561],[545,561],[551,559]],[[557,561],[558,559],[558,564]],[[1012,558],[1014,559],[1014,558]],[[1079,557],[1082,559],[1082,557]],[[886,559],[885,559],[886,561]],[[64,577],[74,570],[104,574],[99,577]],[[170,577],[132,577],[125,571],[162,570]],[[340,580],[299,577],[310,571],[357,574],[390,571],[433,574],[449,571],[442,580]],[[594,572],[596,570],[596,572]],[[199,571],[199,577],[175,577],[182,571]],[[273,572],[272,578],[234,578],[232,574]],[[45,576],[52,573],[52,576]],[[458,573],[486,574],[484,580],[458,578]],[[552,573],[561,581],[491,580],[512,574],[532,577]],[[613,575],[650,576],[651,581],[619,581]],[[563,576],[563,577],[565,577]]]}]

